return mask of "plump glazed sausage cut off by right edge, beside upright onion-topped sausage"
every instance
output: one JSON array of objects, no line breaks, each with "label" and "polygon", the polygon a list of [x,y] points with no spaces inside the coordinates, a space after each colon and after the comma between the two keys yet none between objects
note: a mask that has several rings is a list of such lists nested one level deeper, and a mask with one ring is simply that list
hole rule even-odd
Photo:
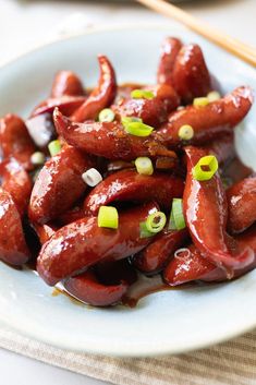
[{"label": "plump glazed sausage cut off by right edge, beside upright onion-topped sausage", "polygon": [[256,176],[246,178],[227,190],[228,229],[242,232],[256,220]]}]

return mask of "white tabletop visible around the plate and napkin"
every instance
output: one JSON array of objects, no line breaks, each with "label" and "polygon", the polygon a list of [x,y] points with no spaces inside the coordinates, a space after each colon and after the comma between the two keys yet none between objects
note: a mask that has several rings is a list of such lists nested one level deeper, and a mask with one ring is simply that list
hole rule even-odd
[{"label": "white tabletop visible around the plate and napkin", "polygon": [[[191,1],[183,8],[212,26],[256,47],[255,0]],[[82,12],[82,15],[81,15]],[[0,61],[16,57],[38,41],[61,33],[70,21],[81,26],[162,22],[142,7],[121,1],[0,0]],[[0,373],[9,385],[107,384],[0,349]]]}]

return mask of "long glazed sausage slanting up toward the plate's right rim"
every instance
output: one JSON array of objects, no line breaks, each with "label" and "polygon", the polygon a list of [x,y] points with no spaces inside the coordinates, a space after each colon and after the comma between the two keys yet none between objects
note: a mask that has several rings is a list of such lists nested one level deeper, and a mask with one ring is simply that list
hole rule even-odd
[{"label": "long glazed sausage slanting up toward the plate's right rim", "polygon": [[169,146],[181,145],[179,130],[182,125],[190,124],[194,130],[191,142],[206,143],[239,124],[249,111],[253,100],[253,91],[249,87],[239,87],[205,107],[188,106],[171,113],[168,123],[156,133],[156,139]]}]

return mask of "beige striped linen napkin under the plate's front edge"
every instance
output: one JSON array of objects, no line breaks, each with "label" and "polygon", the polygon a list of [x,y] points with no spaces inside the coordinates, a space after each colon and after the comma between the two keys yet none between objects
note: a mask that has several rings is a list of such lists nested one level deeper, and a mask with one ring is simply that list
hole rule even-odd
[{"label": "beige striped linen napkin under the plate's front edge", "polygon": [[58,349],[1,325],[0,347],[120,385],[256,385],[256,330],[187,354],[119,359]]}]

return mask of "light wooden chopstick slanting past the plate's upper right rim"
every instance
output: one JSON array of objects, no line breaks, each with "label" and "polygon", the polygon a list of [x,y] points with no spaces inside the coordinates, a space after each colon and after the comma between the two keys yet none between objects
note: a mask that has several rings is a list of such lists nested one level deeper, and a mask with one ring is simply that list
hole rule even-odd
[{"label": "light wooden chopstick slanting past the plate's upper right rim", "polygon": [[215,28],[211,28],[204,22],[192,16],[187,12],[181,10],[180,8],[168,3],[164,0],[137,0],[139,3],[150,8],[151,10],[175,19],[180,23],[186,25],[192,31],[204,36],[208,40],[215,43],[227,51],[233,53],[240,59],[246,61],[247,63],[256,67],[256,49],[235,39],[231,36],[222,34]]}]

